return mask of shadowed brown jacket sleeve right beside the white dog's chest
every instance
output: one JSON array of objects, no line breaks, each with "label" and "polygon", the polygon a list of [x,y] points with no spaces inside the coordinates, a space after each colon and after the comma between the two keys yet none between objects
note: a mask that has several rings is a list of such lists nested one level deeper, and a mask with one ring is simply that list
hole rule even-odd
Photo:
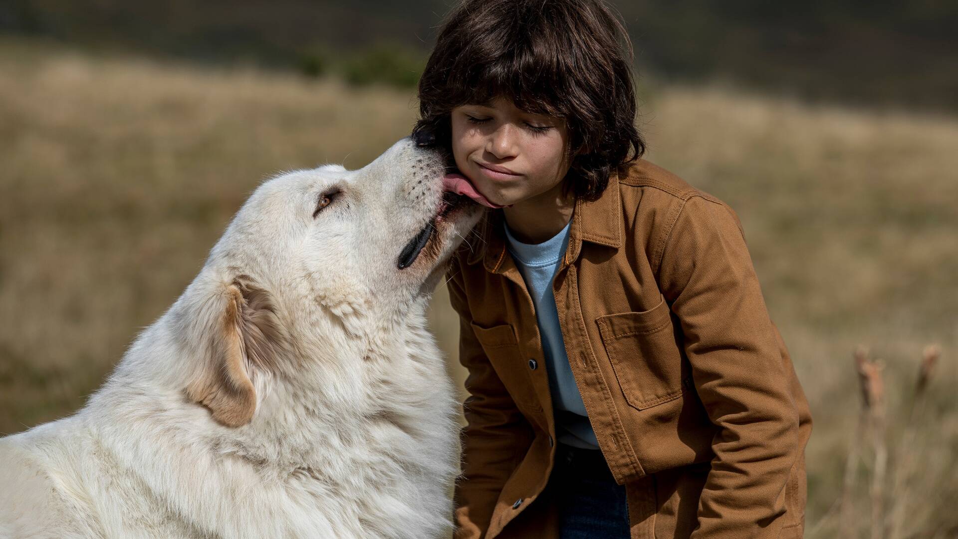
[{"label": "shadowed brown jacket sleeve right beside the white dog's chest", "polygon": [[459,314],[459,362],[468,369],[469,393],[463,404],[463,471],[453,496],[455,539],[479,539],[503,485],[532,443],[532,432],[476,340],[455,259],[447,278],[449,301]]}]

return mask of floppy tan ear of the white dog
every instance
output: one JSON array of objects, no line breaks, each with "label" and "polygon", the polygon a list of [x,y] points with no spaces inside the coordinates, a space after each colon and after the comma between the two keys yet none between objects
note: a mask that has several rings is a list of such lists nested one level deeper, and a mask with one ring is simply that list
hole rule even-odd
[{"label": "floppy tan ear of the white dog", "polygon": [[210,409],[219,423],[239,427],[257,408],[253,381],[275,366],[286,340],[269,293],[248,277],[237,277],[224,295],[218,320],[207,326],[206,364],[187,396]]}]

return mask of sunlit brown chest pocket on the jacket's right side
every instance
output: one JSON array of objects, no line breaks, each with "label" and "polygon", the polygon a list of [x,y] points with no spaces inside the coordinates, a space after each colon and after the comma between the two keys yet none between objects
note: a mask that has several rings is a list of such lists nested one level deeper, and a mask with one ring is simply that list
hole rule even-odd
[{"label": "sunlit brown chest pocket on the jacket's right side", "polygon": [[596,318],[605,352],[627,403],[644,410],[682,394],[682,358],[669,304]]}]

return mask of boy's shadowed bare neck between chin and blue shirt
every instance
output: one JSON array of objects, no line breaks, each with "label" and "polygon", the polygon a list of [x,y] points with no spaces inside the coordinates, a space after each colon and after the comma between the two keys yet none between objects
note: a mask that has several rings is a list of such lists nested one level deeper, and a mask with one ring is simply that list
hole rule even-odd
[{"label": "boy's shadowed bare neck between chin and blue shirt", "polygon": [[502,208],[513,237],[523,244],[541,244],[554,237],[572,219],[573,195],[562,194],[562,182],[535,197]]}]

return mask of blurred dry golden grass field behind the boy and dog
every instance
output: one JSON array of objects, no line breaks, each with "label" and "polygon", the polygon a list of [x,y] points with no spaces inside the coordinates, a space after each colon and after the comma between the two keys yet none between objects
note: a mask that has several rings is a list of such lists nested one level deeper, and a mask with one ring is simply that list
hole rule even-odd
[{"label": "blurred dry golden grass field behind the boy and dog", "polygon": [[[807,536],[958,536],[958,119],[714,86],[645,94],[650,160],[739,213],[808,393]],[[0,433],[79,408],[262,178],[360,167],[415,112],[397,90],[0,42]],[[440,290],[434,328],[455,363],[450,313]],[[927,343],[941,359],[912,413]],[[884,364],[878,493],[872,444],[854,442],[858,344]]]}]

